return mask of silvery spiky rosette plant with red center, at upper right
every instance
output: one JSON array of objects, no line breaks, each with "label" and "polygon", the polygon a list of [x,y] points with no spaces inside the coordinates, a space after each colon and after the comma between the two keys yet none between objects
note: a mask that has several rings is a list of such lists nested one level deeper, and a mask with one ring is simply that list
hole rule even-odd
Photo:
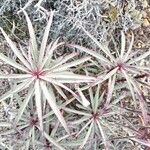
[{"label": "silvery spiky rosette plant with red center, at upper right", "polygon": [[141,110],[143,112],[143,117],[145,118],[145,123],[147,122],[147,113],[145,113],[144,103],[145,98],[143,96],[143,92],[140,89],[140,84],[135,80],[135,76],[138,75],[150,75],[150,68],[148,66],[140,66],[139,61],[148,57],[150,55],[150,51],[148,50],[144,54],[137,55],[137,53],[132,52],[132,46],[134,42],[134,36],[132,34],[131,43],[129,45],[129,48],[126,50],[126,44],[125,44],[125,35],[123,32],[121,32],[121,49],[116,50],[114,54],[111,53],[111,51],[108,49],[107,46],[103,46],[100,42],[98,42],[89,32],[87,32],[83,27],[82,29],[85,31],[85,33],[95,42],[95,44],[98,45],[100,50],[106,55],[104,57],[101,54],[98,54],[97,52],[94,52],[92,50],[89,50],[87,48],[84,48],[79,45],[70,45],[71,47],[77,48],[81,51],[84,51],[93,57],[97,58],[102,64],[104,68],[107,68],[104,70],[104,72],[101,73],[101,75],[98,77],[95,84],[100,84],[110,77],[117,75],[125,78],[127,81],[129,90],[131,91],[133,99],[136,101],[135,97],[138,97],[141,105]]}]

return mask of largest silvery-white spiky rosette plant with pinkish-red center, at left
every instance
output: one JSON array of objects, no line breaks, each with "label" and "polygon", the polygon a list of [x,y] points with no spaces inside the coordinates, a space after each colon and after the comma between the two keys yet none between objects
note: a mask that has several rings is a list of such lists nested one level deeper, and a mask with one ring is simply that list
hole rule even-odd
[{"label": "largest silvery-white spiky rosette plant with pinkish-red center, at left", "polygon": [[[70,67],[79,65],[88,61],[90,57],[84,57],[72,62],[68,62],[77,53],[72,53],[70,55],[62,56],[57,60],[54,60],[52,55],[53,51],[64,44],[64,42],[58,43],[57,39],[55,42],[51,42],[47,45],[49,30],[52,24],[53,19],[53,11],[51,11],[51,15],[47,26],[45,28],[43,40],[41,42],[40,50],[38,51],[38,45],[36,42],[36,37],[34,33],[34,29],[32,27],[31,21],[27,15],[27,13],[23,10],[26,20],[28,23],[28,29],[30,34],[30,42],[28,52],[23,51],[21,45],[20,50],[17,46],[10,40],[7,36],[5,31],[1,28],[1,32],[3,33],[6,41],[8,42],[9,46],[15,53],[15,55],[19,59],[19,63],[13,61],[12,59],[8,58],[4,54],[0,54],[0,59],[5,63],[21,70],[19,74],[1,74],[1,79],[19,79],[19,84],[14,87],[13,90],[9,91],[8,93],[2,95],[0,97],[0,101],[4,101],[7,99],[12,93],[19,92],[25,88],[29,88],[28,94],[26,99],[24,100],[22,107],[19,109],[18,115],[16,116],[16,122],[18,122],[26,108],[31,96],[35,95],[35,103],[36,103],[36,110],[38,112],[38,119],[40,123],[40,129],[43,130],[43,121],[42,121],[42,93],[47,99],[49,105],[51,106],[52,110],[69,133],[69,129],[67,124],[56,105],[56,98],[52,89],[53,87],[64,97],[66,95],[60,89],[64,88],[65,90],[72,93],[74,96],[76,94],[69,89],[64,83],[80,83],[80,82],[89,82],[94,80],[94,77],[88,77],[84,75],[77,75],[73,72],[69,71]],[[77,96],[76,96],[77,97]]]}]

